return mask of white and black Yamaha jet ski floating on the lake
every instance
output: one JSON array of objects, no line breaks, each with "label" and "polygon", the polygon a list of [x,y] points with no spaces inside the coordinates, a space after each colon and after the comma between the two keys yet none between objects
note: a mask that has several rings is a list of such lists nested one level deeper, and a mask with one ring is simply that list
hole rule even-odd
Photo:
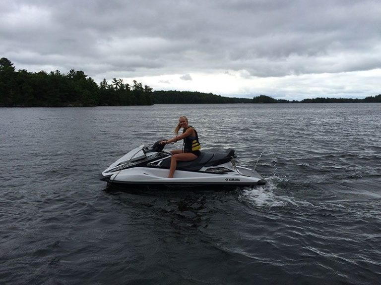
[{"label": "white and black Yamaha jet ski floating on the lake", "polygon": [[255,186],[264,185],[255,170],[237,166],[233,148],[224,152],[201,151],[192,161],[179,161],[174,178],[167,178],[172,153],[160,141],[140,145],[119,158],[99,179],[108,186]]}]

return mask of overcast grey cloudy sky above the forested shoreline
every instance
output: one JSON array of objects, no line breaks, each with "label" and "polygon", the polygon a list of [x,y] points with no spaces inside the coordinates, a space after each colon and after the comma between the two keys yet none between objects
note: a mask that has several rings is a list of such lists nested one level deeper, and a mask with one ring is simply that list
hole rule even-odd
[{"label": "overcast grey cloudy sky above the forested shoreline", "polygon": [[1,0],[0,57],[154,90],[381,94],[381,0]]}]

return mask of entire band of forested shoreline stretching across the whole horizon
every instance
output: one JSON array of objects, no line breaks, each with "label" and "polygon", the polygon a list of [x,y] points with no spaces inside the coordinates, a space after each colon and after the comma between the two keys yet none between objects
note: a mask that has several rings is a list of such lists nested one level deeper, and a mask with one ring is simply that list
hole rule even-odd
[{"label": "entire band of forested shoreline stretching across the whole horizon", "polygon": [[36,73],[15,71],[13,63],[0,58],[0,107],[126,106],[152,104],[227,104],[227,103],[361,103],[381,102],[381,95],[364,99],[315,98],[274,99],[259,95],[253,98],[224,97],[190,91],[152,91],[135,80],[132,84],[114,78],[97,83],[83,71],[59,70]]}]

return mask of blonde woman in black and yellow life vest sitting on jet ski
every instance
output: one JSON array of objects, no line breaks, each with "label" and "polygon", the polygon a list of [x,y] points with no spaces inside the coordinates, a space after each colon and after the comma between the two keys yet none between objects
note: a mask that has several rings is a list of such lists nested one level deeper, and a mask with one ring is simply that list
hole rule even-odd
[{"label": "blonde woman in black and yellow life vest sitting on jet ski", "polygon": [[[183,134],[179,135],[179,130],[181,128],[183,128]],[[171,150],[172,157],[168,178],[173,178],[178,161],[191,161],[196,159],[201,154],[201,145],[198,142],[197,132],[192,126],[188,125],[188,119],[186,116],[181,116],[179,118],[179,124],[175,128],[175,134],[176,137],[160,142],[161,144],[167,144],[184,139],[184,150]]]}]

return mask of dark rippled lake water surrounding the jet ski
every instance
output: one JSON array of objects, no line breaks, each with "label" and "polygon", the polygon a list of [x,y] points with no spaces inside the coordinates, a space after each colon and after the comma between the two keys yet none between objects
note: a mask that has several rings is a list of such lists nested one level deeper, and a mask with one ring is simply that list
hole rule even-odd
[{"label": "dark rippled lake water surrounding the jet ski", "polygon": [[[105,190],[183,114],[268,183]],[[380,284],[381,104],[0,108],[0,130],[0,284]]]}]

